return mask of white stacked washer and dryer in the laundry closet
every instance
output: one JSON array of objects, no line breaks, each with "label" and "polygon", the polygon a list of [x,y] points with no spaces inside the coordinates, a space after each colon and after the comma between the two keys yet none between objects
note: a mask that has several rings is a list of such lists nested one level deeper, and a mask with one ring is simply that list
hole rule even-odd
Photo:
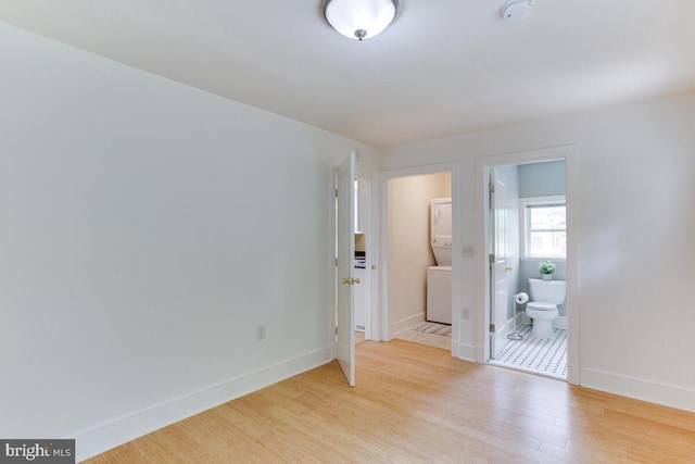
[{"label": "white stacked washer and dryer in the laundry closet", "polygon": [[435,198],[430,208],[435,266],[427,268],[427,319],[452,323],[452,199]]}]

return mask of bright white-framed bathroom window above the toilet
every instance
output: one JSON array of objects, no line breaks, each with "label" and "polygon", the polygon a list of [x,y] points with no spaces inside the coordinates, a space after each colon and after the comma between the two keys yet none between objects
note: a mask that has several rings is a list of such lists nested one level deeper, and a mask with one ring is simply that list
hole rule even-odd
[{"label": "bright white-framed bathroom window above the toilet", "polygon": [[523,258],[567,256],[565,196],[521,199]]}]

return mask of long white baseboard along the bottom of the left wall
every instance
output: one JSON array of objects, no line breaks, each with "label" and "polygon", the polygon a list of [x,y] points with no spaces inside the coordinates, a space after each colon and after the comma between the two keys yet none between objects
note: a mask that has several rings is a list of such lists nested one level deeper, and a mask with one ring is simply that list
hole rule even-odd
[{"label": "long white baseboard along the bottom of the left wall", "polygon": [[211,407],[324,365],[331,360],[331,347],[323,348],[79,431],[73,435],[76,438],[76,461],[80,462],[103,453]]}]

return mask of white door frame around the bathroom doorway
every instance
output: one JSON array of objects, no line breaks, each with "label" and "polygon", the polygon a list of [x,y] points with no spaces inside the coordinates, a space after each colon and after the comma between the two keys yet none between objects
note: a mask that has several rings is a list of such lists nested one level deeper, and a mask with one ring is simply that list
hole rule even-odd
[{"label": "white door frame around the bathroom doorway", "polygon": [[[476,217],[478,218],[477,242],[481,250],[490,250],[490,198],[488,183],[490,170],[509,164],[527,164],[541,161],[565,160],[565,198],[567,201],[567,381],[580,385],[579,358],[579,198],[577,146],[549,147],[536,150],[510,152],[476,160]],[[485,364],[490,360],[490,265],[488,252],[477,253],[478,286],[478,347],[476,362]]]}]

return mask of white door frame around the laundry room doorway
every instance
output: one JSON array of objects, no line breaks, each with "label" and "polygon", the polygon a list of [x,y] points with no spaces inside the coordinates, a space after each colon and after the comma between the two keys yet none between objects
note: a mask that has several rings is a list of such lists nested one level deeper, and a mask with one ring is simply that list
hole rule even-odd
[{"label": "white door frame around the laundry room doorway", "polygon": [[389,341],[393,339],[392,321],[389,311],[389,208],[388,189],[389,180],[399,177],[410,177],[427,174],[448,172],[452,175],[452,356],[458,358],[458,339],[460,334],[460,279],[462,263],[459,252],[462,250],[462,223],[460,223],[460,174],[459,163],[439,163],[421,166],[405,167],[390,171],[382,171],[379,181],[380,200],[380,263],[379,293],[381,304],[379,308],[379,340]]}]

